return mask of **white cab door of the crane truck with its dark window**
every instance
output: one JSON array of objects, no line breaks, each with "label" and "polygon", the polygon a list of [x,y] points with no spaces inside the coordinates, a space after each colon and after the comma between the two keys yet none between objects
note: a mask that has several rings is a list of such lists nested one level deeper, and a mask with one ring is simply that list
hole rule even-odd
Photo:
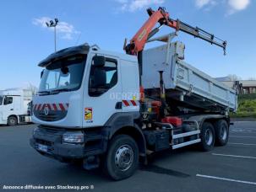
[{"label": "white cab door of the crane truck with its dark window", "polygon": [[122,111],[120,69],[118,57],[90,54],[84,85],[84,127],[105,125],[113,114]]}]

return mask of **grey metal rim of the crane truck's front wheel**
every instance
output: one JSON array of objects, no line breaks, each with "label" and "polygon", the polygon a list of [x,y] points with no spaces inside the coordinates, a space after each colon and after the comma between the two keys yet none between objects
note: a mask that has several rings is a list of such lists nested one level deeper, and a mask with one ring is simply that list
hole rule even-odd
[{"label": "grey metal rim of the crane truck's front wheel", "polygon": [[133,164],[133,149],[128,145],[123,145],[117,149],[115,164],[121,171],[126,171]]}]

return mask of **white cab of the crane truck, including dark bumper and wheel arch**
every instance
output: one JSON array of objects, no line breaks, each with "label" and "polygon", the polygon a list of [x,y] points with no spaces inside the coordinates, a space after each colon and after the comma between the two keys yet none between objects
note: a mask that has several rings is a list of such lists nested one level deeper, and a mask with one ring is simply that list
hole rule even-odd
[{"label": "white cab of the crane truck, including dark bumper and wheel arch", "polygon": [[90,169],[120,128],[142,136],[134,125],[140,117],[136,56],[80,45],[57,51],[39,66],[44,71],[32,110],[39,126],[30,139],[35,150],[62,162],[84,159]]}]

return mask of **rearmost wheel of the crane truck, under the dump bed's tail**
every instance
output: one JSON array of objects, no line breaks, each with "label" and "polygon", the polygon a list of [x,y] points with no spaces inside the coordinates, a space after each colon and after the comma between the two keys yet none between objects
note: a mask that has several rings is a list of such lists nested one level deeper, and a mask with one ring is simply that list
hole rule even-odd
[{"label": "rearmost wheel of the crane truck, under the dump bed's tail", "polygon": [[228,141],[229,129],[226,120],[215,122],[215,141],[218,146],[225,146]]}]

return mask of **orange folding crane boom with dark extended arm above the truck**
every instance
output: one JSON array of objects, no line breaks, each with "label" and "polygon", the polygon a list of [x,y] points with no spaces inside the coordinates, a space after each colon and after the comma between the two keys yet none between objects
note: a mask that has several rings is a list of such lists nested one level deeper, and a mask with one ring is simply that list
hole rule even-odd
[{"label": "orange folding crane boom with dark extended arm above the truck", "polygon": [[[124,45],[124,50],[129,55],[138,55],[140,51],[144,50],[144,45],[147,40],[149,40],[153,35],[155,35],[162,26],[166,25],[176,31],[181,30],[188,35],[193,35],[201,40],[206,40],[212,45],[217,45],[223,48],[224,55],[226,54],[226,41],[221,40],[215,35],[212,35],[206,32],[203,29],[198,27],[192,27],[189,24],[185,24],[182,21],[176,19],[171,19],[169,13],[166,12],[165,8],[158,8],[157,11],[152,10],[151,8],[147,9],[147,12],[150,15],[150,18],[144,23],[144,25],[139,29],[139,31],[133,36],[133,39],[130,40],[128,45]],[[160,26],[156,27],[155,24],[159,23]],[[126,42],[125,42],[126,44]]]}]

